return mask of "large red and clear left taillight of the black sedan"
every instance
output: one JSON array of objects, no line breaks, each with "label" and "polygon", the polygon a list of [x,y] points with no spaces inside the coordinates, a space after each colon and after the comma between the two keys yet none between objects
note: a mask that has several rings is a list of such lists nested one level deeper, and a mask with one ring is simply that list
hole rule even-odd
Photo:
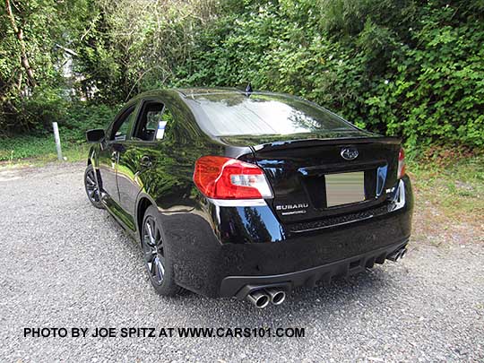
[{"label": "large red and clear left taillight of the black sedan", "polygon": [[213,199],[272,198],[264,171],[254,164],[221,156],[195,162],[194,184]]}]

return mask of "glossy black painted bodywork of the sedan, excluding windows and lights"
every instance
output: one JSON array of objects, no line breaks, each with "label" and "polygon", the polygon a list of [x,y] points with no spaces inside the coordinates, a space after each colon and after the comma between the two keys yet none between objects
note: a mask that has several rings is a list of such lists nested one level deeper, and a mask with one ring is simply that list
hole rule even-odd
[{"label": "glossy black painted bodywork of the sedan, excluding windows and lights", "polygon": [[[178,285],[206,296],[233,296],[247,279],[235,279],[229,288],[222,288],[229,277],[259,276],[264,282],[264,276],[316,268],[406,243],[413,199],[410,179],[396,178],[398,139],[356,127],[344,133],[297,134],[292,139],[287,135],[216,136],[203,127],[203,113],[194,102],[196,94],[210,92],[224,98],[240,91],[143,93],[108,125],[106,137],[91,147],[88,161],[99,172],[103,203],[136,240],[141,238],[144,211],[150,205],[158,208]],[[160,101],[173,115],[161,141],[131,137],[148,101]],[[113,125],[131,109],[134,117],[127,137],[114,140]],[[344,146],[356,147],[359,157],[341,159]],[[193,182],[195,160],[204,155],[258,164],[271,182],[274,198],[258,206],[222,206],[206,198]],[[366,170],[367,199],[325,208],[317,196],[324,175],[350,170]],[[405,203],[393,211],[399,183]],[[282,215],[276,208],[293,203],[307,204],[306,212]]]}]

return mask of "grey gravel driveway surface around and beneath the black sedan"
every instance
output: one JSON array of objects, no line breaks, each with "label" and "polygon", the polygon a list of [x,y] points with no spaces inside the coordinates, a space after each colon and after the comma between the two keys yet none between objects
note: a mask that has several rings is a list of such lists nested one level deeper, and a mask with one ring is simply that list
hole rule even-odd
[{"label": "grey gravel driveway surface around and beneath the black sedan", "polygon": [[[91,207],[83,164],[0,170],[0,361],[484,361],[484,246],[414,239],[398,264],[280,307],[157,296]],[[432,223],[431,220],[416,220]],[[35,338],[26,327],[304,327],[304,338]]]}]

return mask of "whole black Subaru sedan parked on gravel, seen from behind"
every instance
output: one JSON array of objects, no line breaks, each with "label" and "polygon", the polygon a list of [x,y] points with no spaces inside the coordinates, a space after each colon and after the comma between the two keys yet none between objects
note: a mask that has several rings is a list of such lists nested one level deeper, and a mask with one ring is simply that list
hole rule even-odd
[{"label": "whole black Subaru sedan parked on gravel, seen from behind", "polygon": [[304,99],[150,91],[87,139],[89,199],[141,244],[161,295],[266,307],[406,252],[413,199],[400,140]]}]

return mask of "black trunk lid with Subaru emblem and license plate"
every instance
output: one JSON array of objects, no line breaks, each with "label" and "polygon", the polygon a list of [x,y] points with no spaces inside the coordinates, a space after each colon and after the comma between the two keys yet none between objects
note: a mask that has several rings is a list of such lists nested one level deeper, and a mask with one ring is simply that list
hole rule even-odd
[{"label": "black trunk lid with Subaru emblem and license plate", "polygon": [[[386,189],[397,182],[400,140],[396,138],[340,135],[273,140],[251,148],[271,184],[272,210],[284,222],[362,211],[384,203]],[[347,159],[355,151],[358,156],[345,160],[343,150]]]}]

